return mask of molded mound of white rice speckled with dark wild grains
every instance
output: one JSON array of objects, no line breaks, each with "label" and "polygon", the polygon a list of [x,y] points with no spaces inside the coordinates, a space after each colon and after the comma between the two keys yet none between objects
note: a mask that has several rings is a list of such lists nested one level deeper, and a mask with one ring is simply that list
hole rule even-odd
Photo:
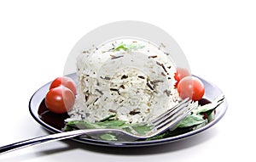
[{"label": "molded mound of white rice speckled with dark wild grains", "polygon": [[[143,47],[114,51],[120,42]],[[79,94],[67,121],[95,122],[116,115],[116,120],[138,123],[172,108],[180,100],[176,68],[163,49],[163,44],[125,38],[82,52],[77,59]]]}]

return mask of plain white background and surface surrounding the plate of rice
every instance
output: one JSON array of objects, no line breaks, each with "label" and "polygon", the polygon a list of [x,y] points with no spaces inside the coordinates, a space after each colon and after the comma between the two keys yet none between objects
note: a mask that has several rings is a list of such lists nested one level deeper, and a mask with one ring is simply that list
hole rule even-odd
[{"label": "plain white background and surface surrounding the plate of rice", "polygon": [[52,142],[0,155],[0,161],[252,161],[255,8],[253,0],[1,1],[0,145],[49,134],[29,114],[33,92],[62,75],[82,36],[117,20],[141,20],[167,31],[192,73],[224,91],[229,109],[211,129],[163,146],[135,150]]}]

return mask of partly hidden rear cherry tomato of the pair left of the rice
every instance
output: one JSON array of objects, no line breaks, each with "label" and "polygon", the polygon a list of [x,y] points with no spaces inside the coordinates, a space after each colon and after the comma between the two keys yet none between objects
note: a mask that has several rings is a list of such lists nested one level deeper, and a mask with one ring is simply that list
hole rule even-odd
[{"label": "partly hidden rear cherry tomato of the pair left of the rice", "polygon": [[54,81],[52,81],[52,83],[49,86],[49,89],[60,86],[67,87],[73,92],[74,95],[77,94],[77,87],[75,82],[67,76],[57,77]]}]

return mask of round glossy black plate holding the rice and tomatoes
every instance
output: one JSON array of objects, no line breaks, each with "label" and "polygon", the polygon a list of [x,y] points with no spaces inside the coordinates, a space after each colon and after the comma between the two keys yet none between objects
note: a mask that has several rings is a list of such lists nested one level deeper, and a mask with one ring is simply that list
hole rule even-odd
[{"label": "round glossy black plate holding the rice and tomatoes", "polygon": [[[71,74],[68,76],[76,80],[76,74]],[[201,81],[203,81],[206,88],[204,98],[207,98],[208,100],[212,101],[214,98],[217,98],[219,95],[223,94],[223,92],[218,87],[212,85],[208,81],[203,80],[202,78],[200,79]],[[38,121],[38,123],[44,126],[44,128],[46,128],[47,130],[56,133],[56,132],[61,132],[61,128],[64,126],[64,120],[68,117],[68,115],[67,114],[55,115],[53,113],[50,113],[46,109],[44,105],[44,97],[46,93],[49,91],[49,84],[50,82],[45,84],[43,87],[39,88],[38,91],[32,95],[32,98],[29,102],[29,110],[34,120]],[[222,103],[216,109],[216,116],[215,116],[215,119],[212,120],[212,122],[208,123],[206,126],[203,126],[195,131],[189,131],[174,137],[166,137],[163,139],[157,139],[152,141],[136,141],[136,142],[107,142],[107,141],[100,141],[96,139],[80,138],[80,137],[75,137],[73,138],[73,140],[78,142],[84,142],[88,144],[108,146],[108,147],[140,147],[140,146],[164,144],[167,142],[174,142],[177,140],[181,140],[185,137],[190,137],[192,135],[198,134],[201,131],[205,131],[211,126],[215,125],[218,122],[218,120],[220,120],[224,116],[227,108],[228,108],[228,104],[226,100],[224,100],[224,103]]]}]

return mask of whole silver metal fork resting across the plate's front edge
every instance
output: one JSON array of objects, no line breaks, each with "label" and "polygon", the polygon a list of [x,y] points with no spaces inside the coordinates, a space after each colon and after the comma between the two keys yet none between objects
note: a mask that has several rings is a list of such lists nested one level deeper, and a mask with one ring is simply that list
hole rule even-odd
[{"label": "whole silver metal fork resting across the plate's front edge", "polygon": [[[61,133],[55,133],[52,135],[46,135],[43,137],[35,137],[21,142],[15,142],[0,148],[0,154],[4,154],[10,151],[14,151],[20,148],[26,148],[33,145],[38,145],[46,142],[54,142],[72,137],[79,137],[81,135],[95,135],[99,133],[116,133],[121,134],[125,137],[127,142],[135,141],[137,139],[145,139],[148,137],[154,137],[167,129],[176,126],[177,122],[183,120],[186,115],[196,108],[195,104],[189,104],[191,101],[189,98],[184,99],[181,103],[178,103],[172,109],[166,111],[164,114],[160,115],[156,119],[148,122],[142,123],[142,125],[150,126],[150,131],[145,134],[139,134],[137,131],[131,129],[130,132],[121,129],[84,129],[76,131],[66,131]],[[129,141],[128,141],[129,140]]]}]

